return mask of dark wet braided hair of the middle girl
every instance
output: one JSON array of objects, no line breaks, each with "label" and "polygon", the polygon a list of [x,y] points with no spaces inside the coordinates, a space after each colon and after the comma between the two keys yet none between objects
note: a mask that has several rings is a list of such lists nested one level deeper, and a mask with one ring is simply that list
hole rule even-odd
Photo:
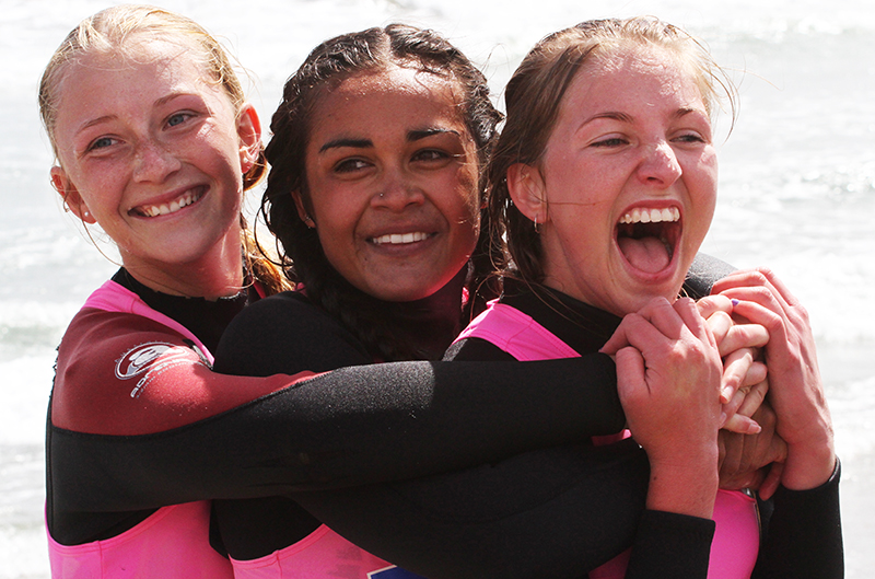
[{"label": "dark wet braided hair of the middle girl", "polygon": [[[332,86],[363,72],[380,72],[390,66],[413,68],[456,83],[463,102],[459,114],[477,147],[481,167],[478,190],[486,190],[486,161],[497,138],[501,114],[494,108],[489,86],[468,58],[438,33],[402,24],[345,34],[322,43],[287,81],[282,102],[271,120],[272,138],[267,147],[270,173],[261,212],[276,235],[278,253],[289,277],[305,288],[307,297],[335,315],[375,357],[383,360],[415,359],[421,352],[394,338],[392,322],[381,313],[380,302],[349,283],[323,252],[318,233],[301,220],[292,196],[300,195],[312,215],[306,181],[306,148],[311,128],[318,123],[315,111]],[[481,217],[485,211],[481,211]],[[463,316],[481,309],[494,289],[482,286],[492,271],[489,233],[481,228],[471,256],[467,288],[469,299]],[[479,291],[478,291],[479,290]]]}]

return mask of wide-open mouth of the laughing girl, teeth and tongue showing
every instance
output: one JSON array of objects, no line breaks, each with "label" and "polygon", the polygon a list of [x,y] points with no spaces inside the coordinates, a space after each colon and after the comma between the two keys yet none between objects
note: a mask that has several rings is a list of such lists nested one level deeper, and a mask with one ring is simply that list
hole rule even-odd
[{"label": "wide-open mouth of the laughing girl, teeth and tongue showing", "polygon": [[617,245],[632,267],[656,274],[670,265],[680,232],[677,207],[637,207],[617,223]]}]

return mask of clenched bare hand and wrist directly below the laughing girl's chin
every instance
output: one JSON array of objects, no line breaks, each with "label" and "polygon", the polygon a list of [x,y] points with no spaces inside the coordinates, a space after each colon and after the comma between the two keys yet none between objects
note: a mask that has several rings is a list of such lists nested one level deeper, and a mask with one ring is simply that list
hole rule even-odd
[{"label": "clenched bare hand and wrist directly below the laughing girl's chin", "polygon": [[651,462],[648,507],[710,518],[723,364],[696,304],[654,299],[602,351],[616,355],[620,402]]}]

